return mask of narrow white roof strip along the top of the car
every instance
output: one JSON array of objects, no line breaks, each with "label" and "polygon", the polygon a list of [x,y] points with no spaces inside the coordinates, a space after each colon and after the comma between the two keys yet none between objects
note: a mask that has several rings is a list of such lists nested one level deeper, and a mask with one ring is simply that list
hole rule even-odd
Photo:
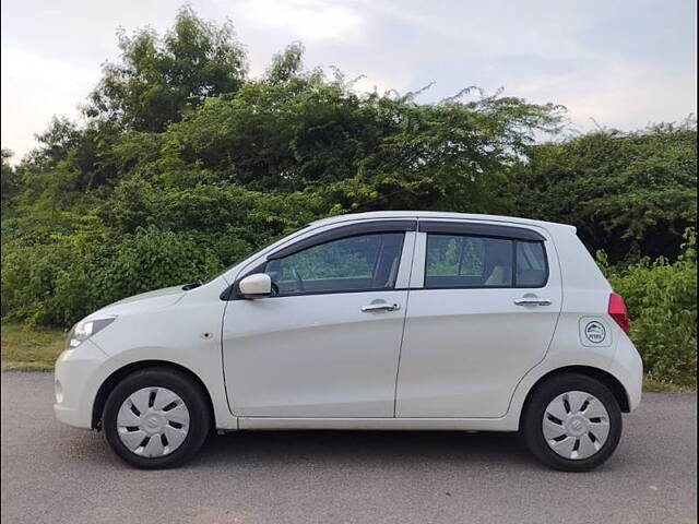
[{"label": "narrow white roof strip along the top of the car", "polygon": [[309,225],[330,225],[347,221],[367,221],[379,218],[429,218],[429,219],[460,219],[460,221],[483,221],[483,222],[503,222],[508,224],[522,224],[530,226],[540,226],[544,228],[564,227],[576,229],[574,226],[568,224],[559,224],[555,222],[534,221],[532,218],[522,218],[517,216],[503,215],[481,215],[475,213],[453,213],[443,211],[372,211],[368,213],[346,213],[343,215],[329,216],[319,221],[311,222]]}]

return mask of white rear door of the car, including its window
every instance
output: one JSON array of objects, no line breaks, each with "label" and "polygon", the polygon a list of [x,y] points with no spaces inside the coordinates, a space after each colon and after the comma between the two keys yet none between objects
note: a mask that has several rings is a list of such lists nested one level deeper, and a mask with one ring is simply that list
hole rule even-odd
[{"label": "white rear door of the car, including its window", "polygon": [[561,307],[542,228],[419,222],[398,417],[501,417],[545,356]]}]

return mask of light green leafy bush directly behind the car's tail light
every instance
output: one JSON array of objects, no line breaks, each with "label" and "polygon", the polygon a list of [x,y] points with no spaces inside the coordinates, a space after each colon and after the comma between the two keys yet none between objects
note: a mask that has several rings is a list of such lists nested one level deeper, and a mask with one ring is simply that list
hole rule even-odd
[{"label": "light green leafy bush directly behind the car's tail light", "polygon": [[695,385],[697,380],[697,243],[694,230],[677,261],[642,259],[626,267],[601,266],[624,296],[631,317],[631,340],[645,372],[657,381]]}]

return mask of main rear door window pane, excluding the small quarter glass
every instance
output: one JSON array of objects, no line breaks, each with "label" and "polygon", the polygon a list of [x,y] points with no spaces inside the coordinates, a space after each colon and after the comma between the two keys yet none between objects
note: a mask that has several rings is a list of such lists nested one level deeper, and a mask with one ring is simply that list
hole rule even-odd
[{"label": "main rear door window pane, excluding the small quarter glass", "polygon": [[511,287],[512,240],[427,235],[425,287]]}]

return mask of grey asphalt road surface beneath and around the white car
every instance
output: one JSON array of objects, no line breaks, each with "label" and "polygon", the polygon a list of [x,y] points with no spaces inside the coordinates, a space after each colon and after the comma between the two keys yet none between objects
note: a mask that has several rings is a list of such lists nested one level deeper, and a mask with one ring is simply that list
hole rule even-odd
[{"label": "grey asphalt road surface beneath and around the white car", "polygon": [[2,373],[3,523],[683,523],[697,520],[697,397],[651,394],[616,454],[545,469],[513,434],[248,432],[168,472],[64,427],[47,373]]}]

